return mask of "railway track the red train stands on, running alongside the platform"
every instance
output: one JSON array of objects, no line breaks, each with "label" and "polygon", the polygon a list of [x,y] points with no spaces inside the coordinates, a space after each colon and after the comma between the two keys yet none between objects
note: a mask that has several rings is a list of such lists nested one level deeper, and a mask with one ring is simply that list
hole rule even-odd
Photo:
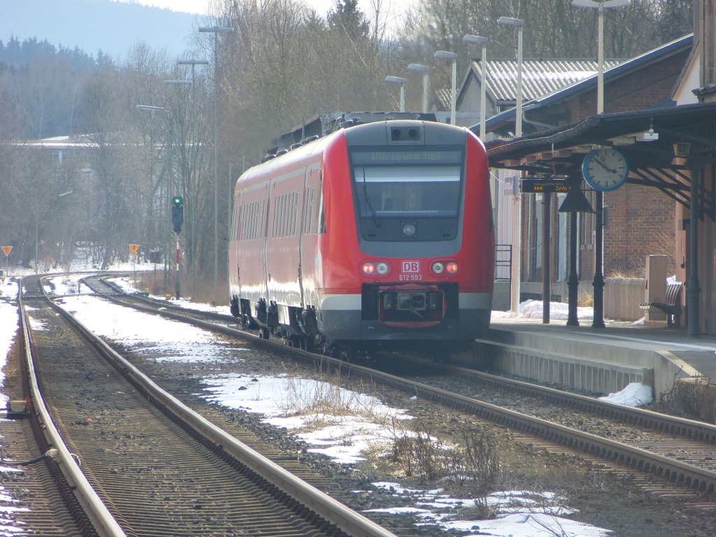
[{"label": "railway track the red train stands on, running alongside the platform", "polygon": [[[144,307],[150,309],[162,307],[160,304],[149,306],[152,301],[143,302]],[[191,315],[203,316],[196,313]],[[222,317],[226,322],[231,319]],[[200,322],[208,323],[203,325],[205,327],[211,327],[209,320]],[[220,330],[227,334],[241,333],[226,326],[221,326]],[[284,349],[289,350],[287,347]],[[291,352],[304,359],[310,356],[298,349],[291,349]],[[675,486],[684,496],[707,493],[708,498],[703,500],[703,505],[716,508],[713,499],[716,490],[714,425],[614,405],[592,397],[470,369],[449,366],[438,368],[421,360],[412,361],[411,367],[397,369],[415,370],[415,364],[433,372],[436,368],[441,369],[451,375],[449,380],[440,382],[442,386],[449,385],[449,390],[428,383],[434,381],[434,374],[410,379],[402,374],[397,376],[378,372],[329,357],[320,359],[322,364],[334,364],[334,367],[350,371],[352,375],[363,374],[371,382],[382,382],[418,397],[506,425],[530,437],[541,437],[547,442],[584,453],[604,461],[610,468],[621,465],[648,478],[658,478],[663,485],[650,485],[653,490],[663,488],[664,493],[673,494]],[[396,358],[394,355],[392,359],[405,357]],[[467,382],[465,379],[468,379]],[[516,399],[518,405],[515,404]]]}]

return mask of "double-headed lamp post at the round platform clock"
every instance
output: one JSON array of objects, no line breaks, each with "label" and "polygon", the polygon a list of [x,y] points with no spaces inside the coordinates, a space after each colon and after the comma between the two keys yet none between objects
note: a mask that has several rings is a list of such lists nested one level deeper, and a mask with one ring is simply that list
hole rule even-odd
[{"label": "double-headed lamp post at the round platform clock", "polygon": [[[572,0],[575,7],[597,10],[599,29],[596,39],[596,113],[604,114],[604,9],[624,7],[630,0]],[[604,193],[596,190],[594,198],[594,316],[591,326],[604,328]]]}]

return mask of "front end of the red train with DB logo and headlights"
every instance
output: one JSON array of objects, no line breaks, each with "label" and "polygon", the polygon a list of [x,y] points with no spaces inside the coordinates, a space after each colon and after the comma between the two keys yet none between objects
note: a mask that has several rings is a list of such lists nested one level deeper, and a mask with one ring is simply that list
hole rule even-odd
[{"label": "front end of the red train with DB logo and headlights", "polygon": [[[345,144],[353,211],[334,212],[344,220],[326,230],[342,234],[326,269],[345,294],[324,301],[322,331],[366,349],[467,346],[488,328],[493,294],[483,145],[462,127],[419,121],[350,127]],[[326,169],[332,185],[337,175]]]}]

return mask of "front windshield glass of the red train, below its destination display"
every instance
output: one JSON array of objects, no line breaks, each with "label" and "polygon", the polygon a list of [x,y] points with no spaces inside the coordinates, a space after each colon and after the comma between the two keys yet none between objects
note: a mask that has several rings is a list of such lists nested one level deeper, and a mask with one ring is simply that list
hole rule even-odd
[{"label": "front windshield glass of the red train, below its destination display", "polygon": [[360,218],[458,216],[461,161],[460,151],[354,153]]}]

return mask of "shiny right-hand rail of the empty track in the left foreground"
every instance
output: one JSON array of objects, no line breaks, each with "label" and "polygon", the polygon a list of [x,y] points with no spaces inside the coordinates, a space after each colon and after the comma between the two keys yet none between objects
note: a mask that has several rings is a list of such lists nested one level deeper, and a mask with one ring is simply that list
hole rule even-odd
[{"label": "shiny right-hand rail of the empty track in the left foreground", "polygon": [[[52,300],[49,300],[52,308],[61,314],[64,319],[72,324],[84,337],[96,341],[98,347],[107,359],[112,360],[115,364],[121,367],[122,372],[127,374],[137,385],[146,390],[151,397],[154,397],[160,404],[165,405],[170,412],[173,412],[181,420],[187,423],[200,435],[208,438],[211,442],[214,442],[218,447],[223,449],[228,455],[235,458],[247,468],[250,468],[256,474],[260,475],[263,479],[276,485],[277,488],[282,490],[287,495],[294,498],[301,505],[306,505],[311,511],[318,514],[326,521],[333,523],[337,528],[341,529],[345,533],[354,537],[397,537],[395,533],[387,531],[382,526],[362,516],[360,513],[352,511],[346,505],[334,500],[326,493],[318,490],[313,485],[306,483],[304,480],[297,478],[295,475],[281,468],[273,461],[264,457],[260,453],[249,448],[236,438],[229,435],[227,432],[221,430],[213,423],[206,420],[204,417],[199,415],[188,406],[184,405],[183,402],[178,400],[173,395],[162,390],[158,384],[152,379],[147,377],[137,367],[127,361],[120,354],[115,352],[112,347],[105,343],[101,338],[92,334],[82,323],[74,318],[69,312],[63,309],[61,306],[54,304]],[[167,316],[175,317],[177,314],[171,312],[162,312]],[[187,318],[184,318],[185,320]],[[195,319],[193,319],[195,320]],[[211,323],[205,323],[211,325]],[[216,329],[216,325],[213,325],[213,329]],[[233,331],[233,336],[236,336],[236,330]]]}]

